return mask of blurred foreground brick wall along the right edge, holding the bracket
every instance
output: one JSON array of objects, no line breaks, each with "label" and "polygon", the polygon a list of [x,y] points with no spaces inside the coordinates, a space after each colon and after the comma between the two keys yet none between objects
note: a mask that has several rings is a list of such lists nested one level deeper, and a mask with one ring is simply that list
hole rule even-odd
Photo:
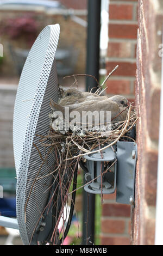
[{"label": "blurred foreground brick wall along the right edge, holding the bracket", "polygon": [[156,178],[163,4],[139,0],[137,35],[136,110],[138,161],[136,169],[133,245],[153,245],[155,235]]}]

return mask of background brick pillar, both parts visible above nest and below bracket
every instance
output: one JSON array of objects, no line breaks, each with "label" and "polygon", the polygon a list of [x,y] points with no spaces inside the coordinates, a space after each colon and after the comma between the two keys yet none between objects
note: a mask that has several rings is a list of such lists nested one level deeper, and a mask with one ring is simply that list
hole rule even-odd
[{"label": "background brick pillar, both parts visible above nest and below bracket", "polygon": [[[107,82],[107,94],[135,98],[137,0],[109,3],[109,45],[106,69],[119,68]],[[104,195],[101,218],[102,245],[130,245],[130,205],[115,203],[115,194]]]}]

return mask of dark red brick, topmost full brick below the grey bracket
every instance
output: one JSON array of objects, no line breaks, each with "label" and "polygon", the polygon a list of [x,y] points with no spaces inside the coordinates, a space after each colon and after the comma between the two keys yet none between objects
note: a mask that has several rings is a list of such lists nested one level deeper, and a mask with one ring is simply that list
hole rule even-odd
[{"label": "dark red brick, topmost full brick below the grey bracket", "polygon": [[130,217],[130,205],[127,204],[103,204],[103,216]]}]

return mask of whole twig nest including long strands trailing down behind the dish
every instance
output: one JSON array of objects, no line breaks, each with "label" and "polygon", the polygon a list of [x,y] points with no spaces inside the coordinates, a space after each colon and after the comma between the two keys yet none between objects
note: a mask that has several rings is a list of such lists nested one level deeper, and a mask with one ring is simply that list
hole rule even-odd
[{"label": "whole twig nest including long strands trailing down behind the dish", "polygon": [[[116,68],[114,70],[116,70]],[[96,93],[101,95],[101,92],[102,89],[98,88]],[[61,94],[62,92],[59,93]],[[48,134],[41,136],[40,141],[43,147],[52,148],[51,151],[55,154],[54,170],[52,174],[55,181],[55,191],[53,193],[55,198],[51,199],[54,202],[53,207],[55,208],[55,228],[51,237],[51,243],[53,245],[60,245],[64,241],[68,229],[70,228],[77,191],[78,166],[80,163],[85,162],[84,156],[96,152],[101,152],[102,156],[103,150],[106,148],[111,147],[112,150],[115,150],[114,148],[118,141],[134,141],[131,131],[137,121],[136,113],[132,104],[127,108],[128,113],[126,120],[118,122],[111,120],[111,122],[107,124],[109,131],[107,131],[107,129],[103,131],[93,127],[92,130],[83,131],[77,129],[61,133],[60,131],[54,131],[53,128],[50,127]],[[111,166],[107,167],[107,163],[105,164],[105,171],[101,173],[101,175],[104,175],[110,170]],[[83,167],[83,164],[80,164],[80,166]],[[87,182],[87,184],[90,182],[92,181]],[[81,185],[79,188],[85,185]],[[70,201],[71,207],[68,208],[67,205]],[[62,222],[61,226],[60,222]]]}]

